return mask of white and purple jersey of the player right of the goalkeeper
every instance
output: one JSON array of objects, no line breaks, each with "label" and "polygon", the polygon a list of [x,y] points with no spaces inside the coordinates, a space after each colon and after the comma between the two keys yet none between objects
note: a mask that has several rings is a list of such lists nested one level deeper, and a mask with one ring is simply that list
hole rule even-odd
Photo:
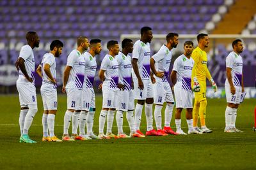
[{"label": "white and purple jersey of the player right of the goalkeeper", "polygon": [[[226,67],[231,68],[232,81],[234,86],[241,87],[243,74],[243,59],[236,52],[230,52],[226,59]],[[226,78],[225,85],[229,85]]]}]

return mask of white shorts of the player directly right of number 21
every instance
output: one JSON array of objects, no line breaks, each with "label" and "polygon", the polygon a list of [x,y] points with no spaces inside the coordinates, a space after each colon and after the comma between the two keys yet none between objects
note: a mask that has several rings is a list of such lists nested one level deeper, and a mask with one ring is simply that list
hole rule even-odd
[{"label": "white shorts of the player directly right of number 21", "polygon": [[95,93],[93,89],[83,89],[82,98],[82,110],[89,111],[90,108],[95,108]]}]

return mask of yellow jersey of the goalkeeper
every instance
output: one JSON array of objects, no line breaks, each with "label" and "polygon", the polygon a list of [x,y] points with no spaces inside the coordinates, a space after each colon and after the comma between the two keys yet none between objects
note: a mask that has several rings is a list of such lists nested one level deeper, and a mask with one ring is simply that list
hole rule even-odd
[{"label": "yellow jersey of the goalkeeper", "polygon": [[212,76],[207,68],[207,53],[197,46],[193,50],[191,57],[195,61],[192,74],[196,74],[197,80],[205,81],[206,78],[211,80]]}]

